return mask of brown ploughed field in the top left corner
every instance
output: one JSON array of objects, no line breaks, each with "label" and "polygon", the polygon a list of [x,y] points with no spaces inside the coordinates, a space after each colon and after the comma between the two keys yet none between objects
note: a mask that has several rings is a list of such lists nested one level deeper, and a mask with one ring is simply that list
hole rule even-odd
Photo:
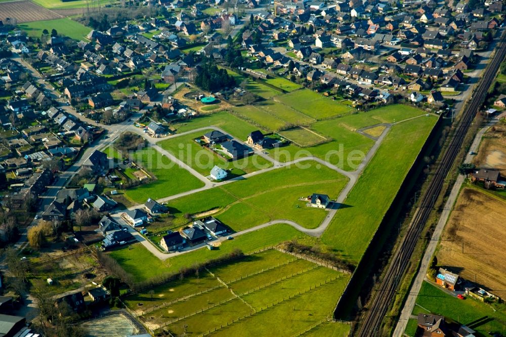
[{"label": "brown ploughed field in the top left corner", "polygon": [[6,21],[6,18],[13,18],[18,23],[22,23],[60,19],[62,16],[44,7],[35,5],[31,1],[22,0],[0,3],[0,20]]}]

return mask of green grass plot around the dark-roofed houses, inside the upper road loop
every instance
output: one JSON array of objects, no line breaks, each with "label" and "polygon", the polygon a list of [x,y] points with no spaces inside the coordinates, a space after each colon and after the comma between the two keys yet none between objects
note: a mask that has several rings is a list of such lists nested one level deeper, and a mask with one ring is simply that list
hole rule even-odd
[{"label": "green grass plot around the dark-roofed houses, inside the upper road loop", "polygon": [[194,168],[195,171],[203,176],[208,176],[210,170],[215,165],[224,170],[230,170],[231,173],[239,176],[272,166],[272,162],[257,154],[234,161],[227,161],[212,150],[206,149],[195,142],[195,138],[199,138],[209,131],[211,130],[167,139],[159,142],[158,145],[174,154],[178,159]]}]

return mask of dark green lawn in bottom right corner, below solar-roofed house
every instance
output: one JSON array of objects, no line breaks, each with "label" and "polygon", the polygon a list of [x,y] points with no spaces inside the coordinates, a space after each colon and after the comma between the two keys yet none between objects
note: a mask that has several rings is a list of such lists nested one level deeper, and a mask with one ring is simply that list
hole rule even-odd
[{"label": "dark green lawn in bottom right corner, below solar-roofed house", "polygon": [[481,336],[488,335],[489,331],[506,333],[504,324],[506,307],[503,304],[492,307],[469,297],[459,300],[456,296],[426,281],[422,284],[416,298],[413,314],[417,315],[420,312],[445,316],[450,322],[469,326]]}]

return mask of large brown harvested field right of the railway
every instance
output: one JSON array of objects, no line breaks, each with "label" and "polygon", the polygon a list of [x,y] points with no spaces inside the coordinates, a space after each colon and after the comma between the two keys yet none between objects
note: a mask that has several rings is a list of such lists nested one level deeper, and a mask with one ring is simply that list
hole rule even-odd
[{"label": "large brown harvested field right of the railway", "polygon": [[[441,237],[438,264],[506,296],[506,201],[464,188]],[[463,254],[462,254],[462,240]]]}]

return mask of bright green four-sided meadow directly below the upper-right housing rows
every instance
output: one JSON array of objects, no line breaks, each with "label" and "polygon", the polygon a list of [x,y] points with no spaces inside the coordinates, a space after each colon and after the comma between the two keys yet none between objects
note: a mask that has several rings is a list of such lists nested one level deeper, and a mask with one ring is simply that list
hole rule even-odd
[{"label": "bright green four-sided meadow directly below the upper-right housing rows", "polygon": [[309,89],[297,90],[275,99],[315,119],[339,116],[355,110]]}]

